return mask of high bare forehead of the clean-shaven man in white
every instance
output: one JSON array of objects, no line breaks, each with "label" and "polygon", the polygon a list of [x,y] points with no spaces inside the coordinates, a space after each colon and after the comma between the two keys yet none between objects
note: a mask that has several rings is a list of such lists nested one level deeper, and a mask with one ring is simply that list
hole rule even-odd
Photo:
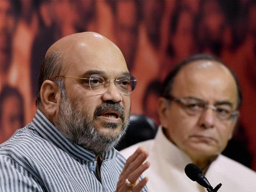
[{"label": "high bare forehead of the clean-shaven man in white", "polygon": [[174,79],[172,94],[193,96],[208,102],[237,103],[236,82],[230,71],[215,61],[199,60],[187,64]]}]

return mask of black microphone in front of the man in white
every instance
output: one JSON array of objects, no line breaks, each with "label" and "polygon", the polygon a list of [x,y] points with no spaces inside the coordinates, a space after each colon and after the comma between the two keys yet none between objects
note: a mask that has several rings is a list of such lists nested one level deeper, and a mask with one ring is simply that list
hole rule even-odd
[{"label": "black microphone in front of the man in white", "polygon": [[208,192],[217,192],[222,184],[218,184],[215,188],[213,188],[206,177],[202,174],[202,170],[193,163],[189,163],[185,167],[185,173],[192,181],[198,182],[198,184],[202,185],[207,189]]}]

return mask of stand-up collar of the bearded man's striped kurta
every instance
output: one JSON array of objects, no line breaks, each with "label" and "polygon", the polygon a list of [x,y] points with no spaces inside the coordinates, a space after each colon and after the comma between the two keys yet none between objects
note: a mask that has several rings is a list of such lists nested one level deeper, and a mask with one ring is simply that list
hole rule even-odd
[{"label": "stand-up collar of the bearded man's striped kurta", "polygon": [[[47,118],[44,114],[37,109],[36,114],[31,123],[36,132],[45,140],[53,143],[55,146],[70,154],[78,160],[94,161],[96,154],[93,151],[86,150],[70,142]],[[102,160],[112,159],[117,156],[117,152],[114,148],[104,152]]]}]

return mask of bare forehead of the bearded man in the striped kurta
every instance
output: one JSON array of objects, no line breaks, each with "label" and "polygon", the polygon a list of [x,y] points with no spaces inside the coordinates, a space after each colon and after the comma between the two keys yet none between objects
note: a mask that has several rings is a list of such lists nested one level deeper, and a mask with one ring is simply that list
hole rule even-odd
[{"label": "bare forehead of the bearded man in the striped kurta", "polygon": [[110,42],[78,42],[63,52],[64,71],[70,76],[81,76],[88,70],[98,70],[110,77],[128,72],[124,56]]}]

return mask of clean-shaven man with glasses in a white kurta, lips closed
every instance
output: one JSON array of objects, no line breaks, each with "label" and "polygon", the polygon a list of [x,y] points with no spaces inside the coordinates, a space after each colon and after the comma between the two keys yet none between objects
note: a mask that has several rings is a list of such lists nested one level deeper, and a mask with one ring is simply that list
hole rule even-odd
[{"label": "clean-shaven man with glasses in a white kurta, lips closed", "polygon": [[221,154],[238,119],[239,84],[215,56],[200,54],[181,62],[166,77],[158,100],[161,126],[154,140],[123,150],[124,156],[142,146],[148,150],[148,190],[206,192],[184,173],[187,164],[202,169],[220,192],[254,192],[256,173]]}]

